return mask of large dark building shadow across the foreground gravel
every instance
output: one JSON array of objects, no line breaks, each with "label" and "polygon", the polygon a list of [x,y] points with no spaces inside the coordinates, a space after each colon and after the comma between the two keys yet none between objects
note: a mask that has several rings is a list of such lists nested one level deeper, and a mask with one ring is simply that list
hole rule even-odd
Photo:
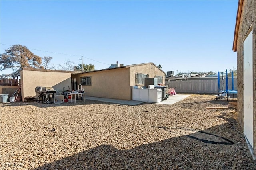
[{"label": "large dark building shadow across the foreground gravel", "polygon": [[226,123],[204,130],[219,137],[193,129],[150,127],[156,133],[167,130],[180,136],[128,150],[100,145],[36,169],[256,169],[242,131],[234,122],[230,119],[235,129]]}]

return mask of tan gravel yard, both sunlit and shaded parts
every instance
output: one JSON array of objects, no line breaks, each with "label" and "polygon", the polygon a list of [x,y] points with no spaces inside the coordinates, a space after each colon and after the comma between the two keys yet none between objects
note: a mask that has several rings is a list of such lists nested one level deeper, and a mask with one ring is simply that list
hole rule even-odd
[{"label": "tan gravel yard, both sunlit and shaded parts", "polygon": [[191,95],[173,105],[138,106],[1,104],[1,168],[256,169],[237,113],[205,109],[227,107],[214,98]]}]

